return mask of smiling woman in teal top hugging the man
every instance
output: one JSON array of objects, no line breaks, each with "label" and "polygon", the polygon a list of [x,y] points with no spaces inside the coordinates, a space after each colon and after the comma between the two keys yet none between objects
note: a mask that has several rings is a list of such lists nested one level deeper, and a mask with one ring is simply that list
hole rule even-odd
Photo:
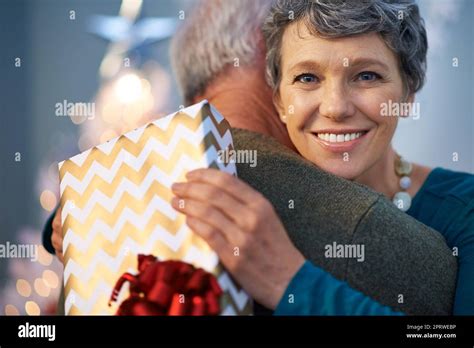
[{"label": "smiling woman in teal top hugging the man", "polygon": [[[383,111],[413,105],[423,85],[427,40],[416,4],[280,0],[264,34],[275,105],[300,154],[439,231],[459,260],[454,314],[474,314],[474,176],[401,159],[391,140],[408,114]],[[216,190],[218,207],[206,203]],[[277,314],[396,314],[305,261],[271,205],[239,180],[198,170],[174,192],[189,226]],[[245,257],[234,257],[235,246]]]}]

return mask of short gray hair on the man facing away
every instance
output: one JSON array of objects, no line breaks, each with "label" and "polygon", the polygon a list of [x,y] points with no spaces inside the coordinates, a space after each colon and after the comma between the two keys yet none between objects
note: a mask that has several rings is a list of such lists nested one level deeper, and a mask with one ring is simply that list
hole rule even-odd
[{"label": "short gray hair on the man facing away", "polygon": [[[200,0],[171,42],[171,62],[186,103],[237,58],[251,64],[273,0]],[[186,11],[188,12],[188,11]]]}]

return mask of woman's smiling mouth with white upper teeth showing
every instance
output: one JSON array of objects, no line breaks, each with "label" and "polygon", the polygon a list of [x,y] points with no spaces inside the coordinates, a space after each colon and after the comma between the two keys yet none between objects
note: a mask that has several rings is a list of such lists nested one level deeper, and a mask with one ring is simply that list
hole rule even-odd
[{"label": "woman's smiling mouth with white upper teeth showing", "polygon": [[[312,133],[314,139],[326,150],[343,153],[352,151],[357,145],[359,145],[367,137],[370,130],[366,131],[351,131],[344,133]],[[355,137],[354,137],[355,135]],[[339,138],[338,138],[339,137]],[[344,141],[341,141],[344,137]],[[349,139],[345,141],[345,139]],[[339,140],[339,141],[338,141]]]}]

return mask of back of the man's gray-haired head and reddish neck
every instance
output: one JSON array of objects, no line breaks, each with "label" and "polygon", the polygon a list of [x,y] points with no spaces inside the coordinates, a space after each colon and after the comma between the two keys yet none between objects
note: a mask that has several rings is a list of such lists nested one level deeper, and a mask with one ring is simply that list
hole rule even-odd
[{"label": "back of the man's gray-haired head and reddish neck", "polygon": [[294,149],[264,79],[260,26],[272,3],[197,1],[173,37],[171,61],[186,104],[207,99],[233,127],[272,136]]}]

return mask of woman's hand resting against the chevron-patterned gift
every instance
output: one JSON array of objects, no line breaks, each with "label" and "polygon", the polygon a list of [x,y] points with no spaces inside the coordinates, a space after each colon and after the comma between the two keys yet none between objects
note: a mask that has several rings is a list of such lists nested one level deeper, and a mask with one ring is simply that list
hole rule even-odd
[{"label": "woman's hand resting against the chevron-patterned gift", "polygon": [[198,169],[176,183],[172,206],[256,301],[274,309],[304,263],[273,206],[238,178]]}]

